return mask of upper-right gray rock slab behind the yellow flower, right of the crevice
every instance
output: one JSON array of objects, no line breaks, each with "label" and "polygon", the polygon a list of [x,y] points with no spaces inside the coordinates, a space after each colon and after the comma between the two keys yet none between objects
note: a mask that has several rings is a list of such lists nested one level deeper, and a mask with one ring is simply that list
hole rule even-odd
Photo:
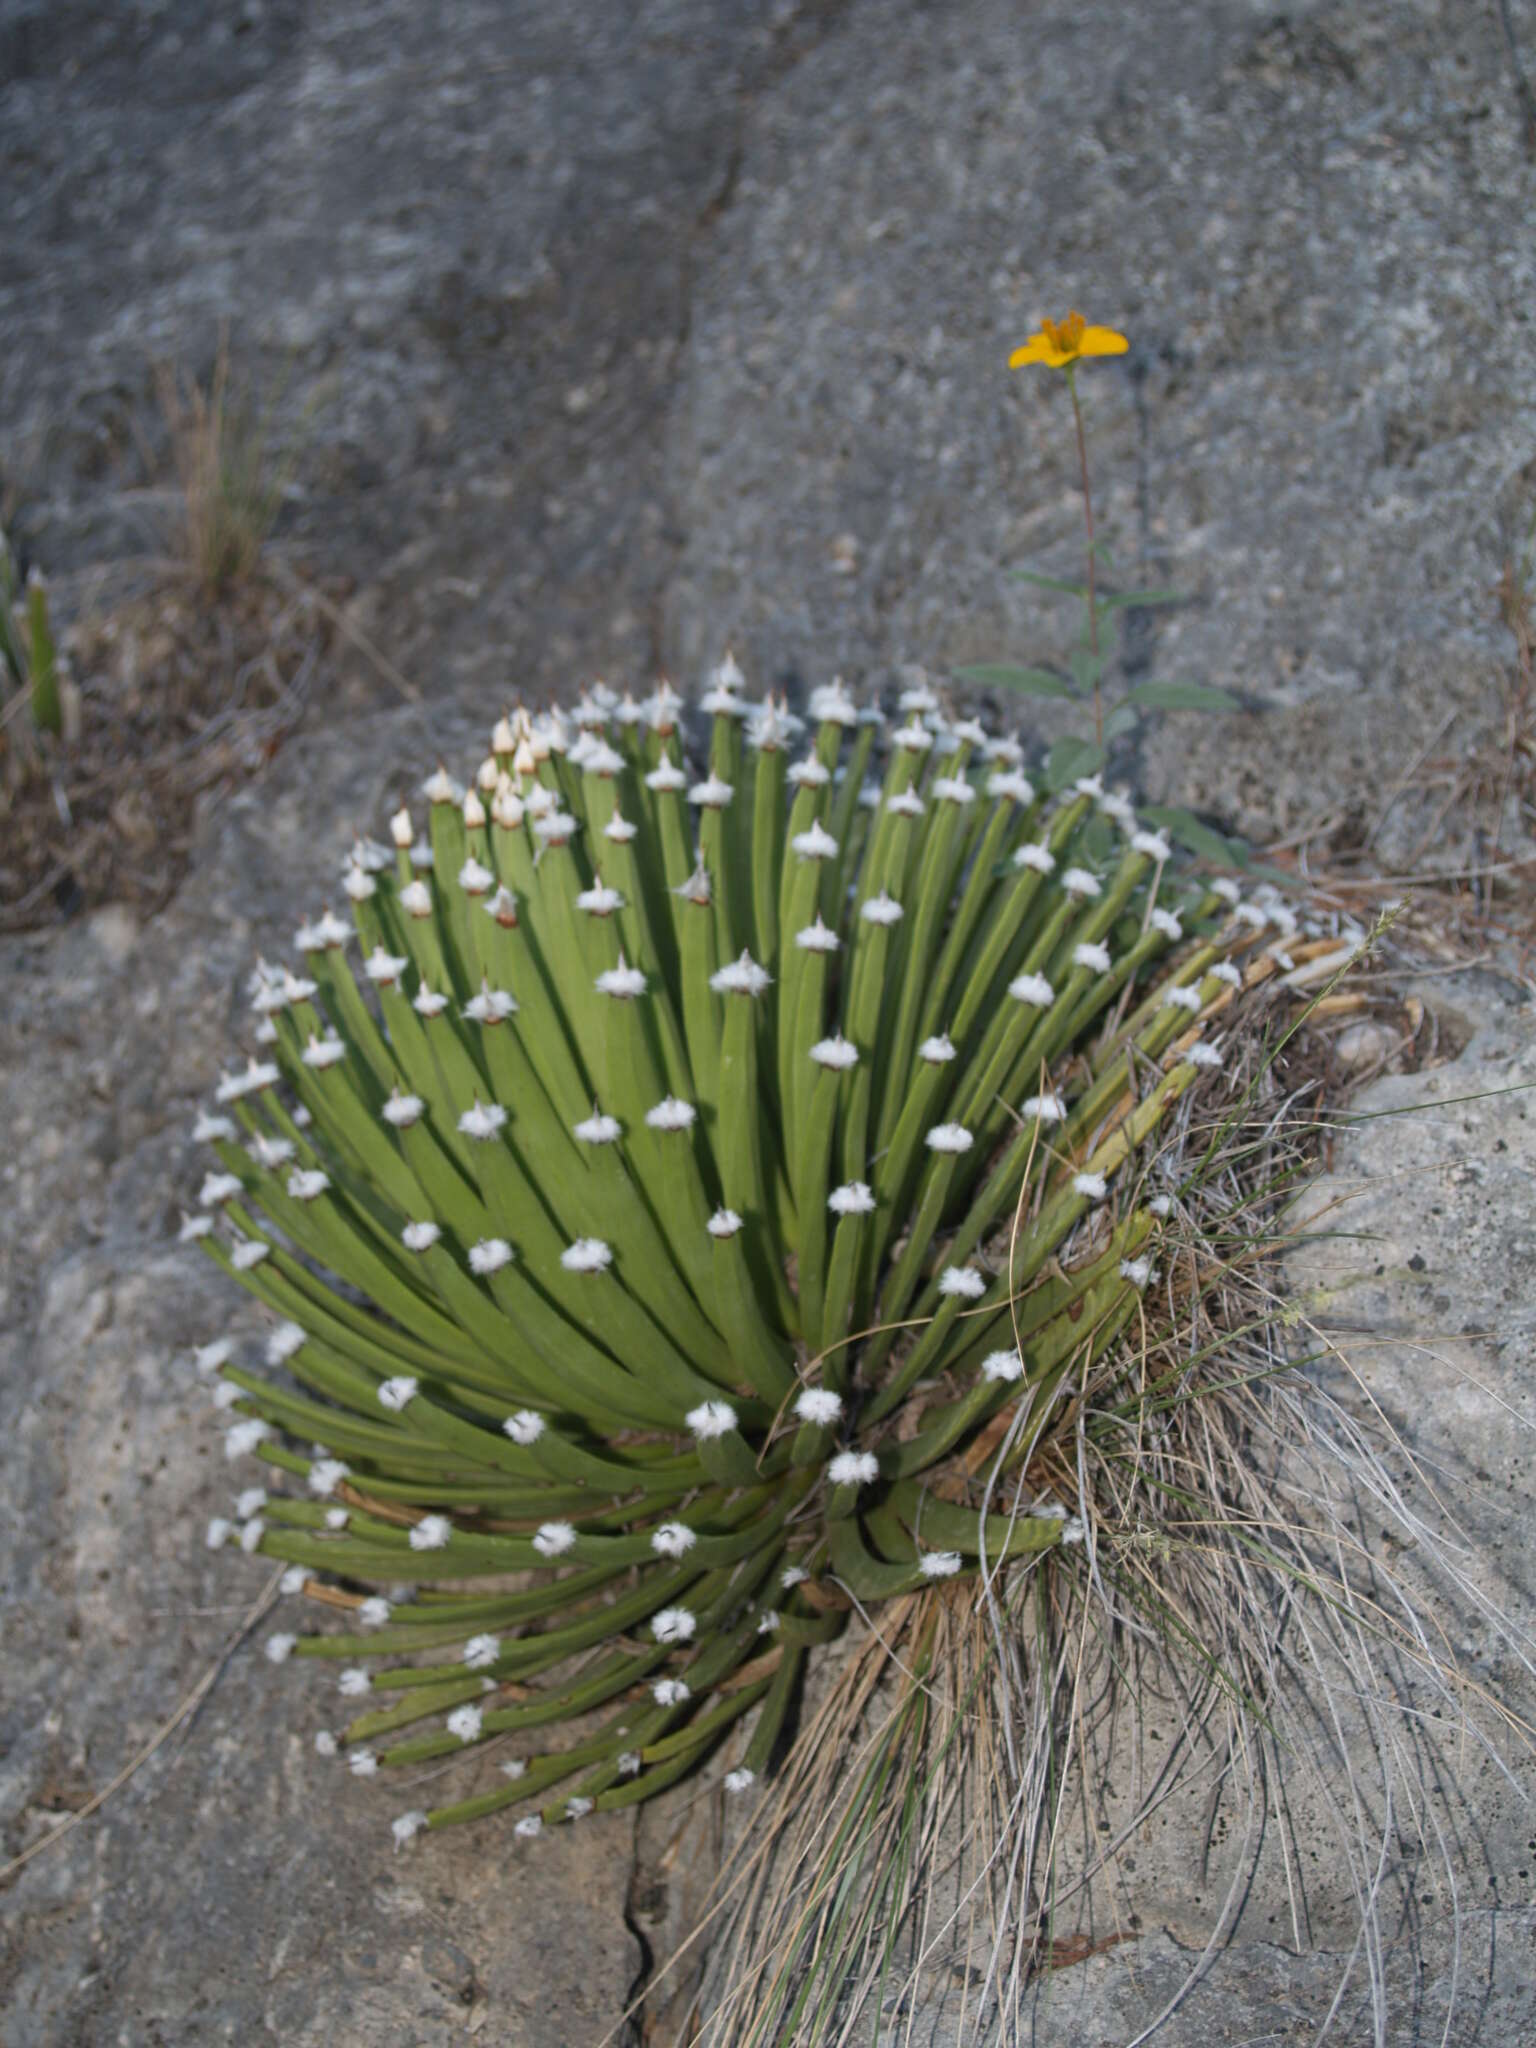
[{"label": "upper-right gray rock slab behind the yellow flower, right of the crevice", "polygon": [[1358,809],[1497,702],[1528,207],[1477,10],[856,6],[750,115],[694,293],[676,666],[1061,659],[1006,569],[1081,573],[1071,414],[1004,365],[1077,303],[1133,340],[1081,373],[1100,532],[1190,592],[1133,672],[1251,705],[1126,770],[1255,834]]}]

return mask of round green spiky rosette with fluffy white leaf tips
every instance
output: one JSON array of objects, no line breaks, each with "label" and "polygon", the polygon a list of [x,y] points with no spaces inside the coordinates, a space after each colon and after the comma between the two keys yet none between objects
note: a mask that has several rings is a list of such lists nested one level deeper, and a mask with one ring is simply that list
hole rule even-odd
[{"label": "round green spiky rosette with fluffy white leaf tips", "polygon": [[344,1665],[362,1774],[520,1751],[406,1835],[641,1800],[754,1716],[741,1788],[852,1599],[1081,1534],[977,1460],[1135,1315],[1151,1141],[1288,922],[926,690],[887,735],[739,686],[702,768],[662,686],[438,770],[199,1122],[186,1233],[279,1319],[201,1354],[293,1481],[242,1544],[352,1622],[268,1655]]}]

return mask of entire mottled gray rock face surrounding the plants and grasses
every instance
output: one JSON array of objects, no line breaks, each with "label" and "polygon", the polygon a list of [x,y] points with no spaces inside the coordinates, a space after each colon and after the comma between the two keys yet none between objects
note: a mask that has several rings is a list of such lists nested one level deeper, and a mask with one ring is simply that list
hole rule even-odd
[{"label": "entire mottled gray rock face surrounding the plants and grasses", "polygon": [[[188,1128],[254,952],[428,729],[457,758],[504,690],[692,680],[727,639],[762,682],[1059,653],[1069,623],[1004,569],[1073,571],[1063,393],[1004,358],[1077,301],[1135,344],[1083,375],[1104,528],[1139,580],[1192,592],[1139,629],[1133,674],[1249,702],[1169,719],[1124,772],[1249,831],[1370,815],[1442,719],[1466,743],[1507,659],[1487,592],[1530,508],[1536,369],[1518,113],[1493,10],[1452,0],[0,0],[0,176],[23,549],[68,592],[162,547],[150,358],[205,371],[227,317],[279,428],[303,422],[283,543],[356,578],[356,621],[428,702],[360,711],[383,686],[342,649],[340,694],[203,819],[162,918],[0,946],[14,1851],[133,1755],[260,1583],[199,1544],[229,1475],[178,1358],[231,1311],[170,1249]],[[1495,1028],[1528,1061],[1526,1012],[1452,999],[1483,1036],[1434,1085],[1503,1073]],[[1456,1182],[1436,1217],[1413,1206],[1454,1169],[1415,1151],[1436,1128],[1341,1147],[1341,1174],[1397,1159],[1413,1196],[1348,1319],[1454,1325],[1448,1366],[1403,1337],[1370,1384],[1419,1430],[1436,1389],[1436,1454],[1479,1458],[1458,1503],[1489,1585],[1528,1604],[1528,1436],[1460,1368],[1530,1399],[1528,1309],[1501,1298],[1530,1147],[1499,1110],[1505,1180]],[[707,1817],[395,1860],[391,1794],[309,1751],[313,1683],[244,1645],[190,1731],[10,1884],[6,2042],[584,2048],[616,2019],[641,1944],[698,1896]],[[1487,1843],[1452,2040],[1522,2048],[1530,1808],[1468,1798]],[[1053,1982],[1040,2040],[1116,2042],[1171,1993],[1200,1939],[1171,1862],[1141,1874],[1143,1939]],[[1395,1958],[1419,2032],[1391,2040],[1438,2038],[1444,1933]],[[1167,2040],[1286,2040],[1335,1970],[1262,1925]],[[1370,2036],[1352,2013],[1343,2038]]]}]

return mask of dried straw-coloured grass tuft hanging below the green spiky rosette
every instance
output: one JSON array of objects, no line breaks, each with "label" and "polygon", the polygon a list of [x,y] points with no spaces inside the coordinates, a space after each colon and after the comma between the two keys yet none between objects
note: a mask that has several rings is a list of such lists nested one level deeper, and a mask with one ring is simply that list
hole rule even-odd
[{"label": "dried straw-coloured grass tuft hanging below the green spiky rosette", "polygon": [[[1337,1128],[1325,1038],[1292,1034],[1286,999],[1257,991],[1231,1020],[1239,1108],[1192,1096],[1147,1161],[1182,1229],[1139,1329],[1098,1360],[1085,1331],[1049,1411],[952,1475],[993,1513],[1055,1499],[1085,1540],[852,1632],[723,1870],[692,2040],[1026,2040],[1047,1972],[1135,1939],[1120,1860],[1178,1808],[1221,1901],[1137,2042],[1262,1878],[1296,1948],[1317,1911],[1354,1942],[1323,2032],[1350,2011],[1368,2028],[1350,2040],[1386,2042],[1389,1937],[1421,1892],[1458,1915],[1456,1753],[1497,1761],[1532,1735],[1456,1667],[1440,1618],[1477,1612],[1526,1671],[1536,1645],[1280,1292],[1294,1192]],[[1331,1901],[1300,1827],[1331,1843]]]}]

